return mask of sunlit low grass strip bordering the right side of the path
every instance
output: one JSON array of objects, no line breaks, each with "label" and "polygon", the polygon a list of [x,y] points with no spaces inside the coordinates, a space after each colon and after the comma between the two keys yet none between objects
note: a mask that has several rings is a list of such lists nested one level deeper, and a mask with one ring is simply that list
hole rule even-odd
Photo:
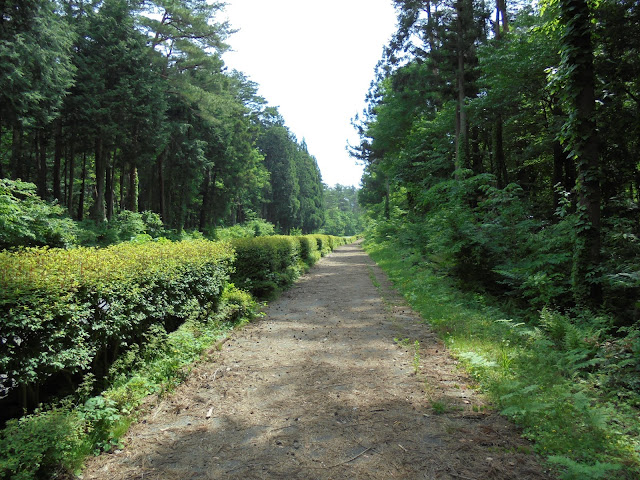
[{"label": "sunlit low grass strip bordering the right side of the path", "polygon": [[[638,478],[638,410],[602,388],[585,348],[559,347],[547,333],[558,328],[505,318],[491,299],[459,291],[397,242],[368,241],[365,248],[560,478]],[[547,316],[541,324],[561,325]],[[570,333],[563,331],[565,343]]]}]

